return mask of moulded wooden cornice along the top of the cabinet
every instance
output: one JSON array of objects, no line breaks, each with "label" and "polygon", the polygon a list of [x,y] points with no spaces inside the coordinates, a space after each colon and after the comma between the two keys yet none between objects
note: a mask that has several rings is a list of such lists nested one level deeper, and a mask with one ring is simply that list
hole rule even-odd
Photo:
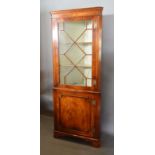
[{"label": "moulded wooden cornice along the top of the cabinet", "polygon": [[101,15],[103,7],[89,7],[89,8],[77,8],[77,9],[68,9],[68,10],[53,10],[49,11],[53,18],[57,18],[58,16],[70,16],[71,13],[78,13],[80,15],[88,16],[92,15]]}]

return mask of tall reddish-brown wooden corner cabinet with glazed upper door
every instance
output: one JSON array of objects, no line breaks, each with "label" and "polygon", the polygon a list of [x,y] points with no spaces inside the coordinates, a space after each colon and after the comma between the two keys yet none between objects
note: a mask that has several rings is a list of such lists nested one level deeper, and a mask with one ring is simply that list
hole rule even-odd
[{"label": "tall reddish-brown wooden corner cabinet with glazed upper door", "polygon": [[51,11],[54,136],[100,146],[102,7]]}]

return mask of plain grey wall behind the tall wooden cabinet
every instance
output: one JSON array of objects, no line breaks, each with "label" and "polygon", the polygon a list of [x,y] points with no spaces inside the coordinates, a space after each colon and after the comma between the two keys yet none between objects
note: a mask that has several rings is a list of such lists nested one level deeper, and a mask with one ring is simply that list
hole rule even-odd
[{"label": "plain grey wall behind the tall wooden cabinet", "polygon": [[41,0],[41,110],[52,111],[52,49],[50,10],[104,7],[102,49],[102,131],[114,134],[114,10],[113,0]]}]

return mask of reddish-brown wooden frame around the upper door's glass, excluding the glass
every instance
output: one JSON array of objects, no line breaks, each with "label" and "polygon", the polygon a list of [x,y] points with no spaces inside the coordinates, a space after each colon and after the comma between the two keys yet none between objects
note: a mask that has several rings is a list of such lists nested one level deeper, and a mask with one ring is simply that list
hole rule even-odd
[{"label": "reddish-brown wooden frame around the upper door's glass, excluding the glass", "polygon": [[[65,21],[93,21],[93,40],[92,40],[92,86],[75,86],[60,84],[59,73],[59,46],[58,46],[58,23]],[[52,47],[53,47],[53,86],[57,88],[69,88],[75,90],[100,90],[100,65],[101,65],[101,20],[100,16],[80,16],[80,17],[62,17],[52,19]]]}]

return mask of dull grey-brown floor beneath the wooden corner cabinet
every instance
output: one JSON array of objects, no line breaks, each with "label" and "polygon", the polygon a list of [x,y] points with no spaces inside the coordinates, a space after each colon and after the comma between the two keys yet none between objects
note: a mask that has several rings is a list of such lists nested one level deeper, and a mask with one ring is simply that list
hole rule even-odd
[{"label": "dull grey-brown floor beneath the wooden corner cabinet", "polygon": [[88,143],[71,138],[53,137],[53,117],[41,115],[40,155],[113,155],[113,136],[104,134],[102,146],[94,148]]}]

